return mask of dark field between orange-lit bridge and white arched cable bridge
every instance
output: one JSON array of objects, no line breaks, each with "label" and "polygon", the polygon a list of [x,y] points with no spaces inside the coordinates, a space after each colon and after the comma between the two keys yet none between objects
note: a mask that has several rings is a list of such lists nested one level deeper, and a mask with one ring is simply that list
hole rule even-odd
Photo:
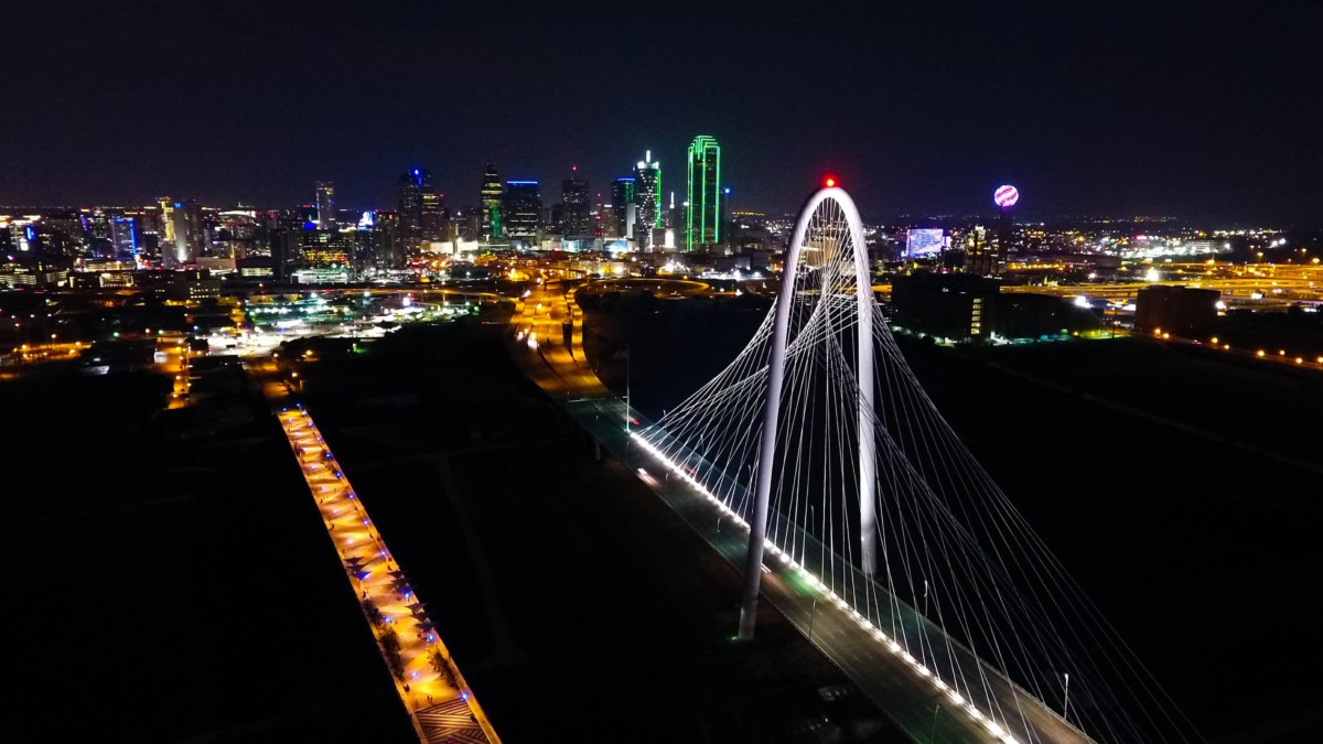
[{"label": "dark field between orange-lit bridge and white arched cable bridge", "polygon": [[410,364],[437,379],[417,404],[307,405],[503,737],[897,740],[774,613],[755,646],[732,642],[736,572],[634,474],[595,461],[496,336],[419,334]]}]

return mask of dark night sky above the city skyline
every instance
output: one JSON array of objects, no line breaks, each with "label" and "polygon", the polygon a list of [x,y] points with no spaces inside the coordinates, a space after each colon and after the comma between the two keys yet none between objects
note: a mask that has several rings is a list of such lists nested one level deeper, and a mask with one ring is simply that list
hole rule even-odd
[{"label": "dark night sky above the city skyline", "polygon": [[830,171],[865,220],[988,212],[1000,183],[1037,216],[1323,214],[1320,3],[835,5],[7,3],[0,204],[283,207],[331,179],[393,207],[419,164],[462,207],[488,160],[552,201],[646,148],[683,200],[710,134],[736,209]]}]

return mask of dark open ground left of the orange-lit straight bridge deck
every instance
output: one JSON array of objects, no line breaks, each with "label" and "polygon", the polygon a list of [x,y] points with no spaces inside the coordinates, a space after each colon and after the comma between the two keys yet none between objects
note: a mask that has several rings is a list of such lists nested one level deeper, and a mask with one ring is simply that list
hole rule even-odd
[{"label": "dark open ground left of the orange-lit straight bridge deck", "polygon": [[147,375],[0,384],[11,731],[410,740],[275,421],[181,442],[160,402]]}]

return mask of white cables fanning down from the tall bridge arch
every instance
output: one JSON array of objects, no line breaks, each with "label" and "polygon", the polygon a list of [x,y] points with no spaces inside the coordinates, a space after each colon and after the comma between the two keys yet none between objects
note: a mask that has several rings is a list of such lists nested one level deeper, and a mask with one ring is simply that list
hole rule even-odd
[{"label": "white cables fanning down from the tall bridge arch", "polygon": [[[1024,710],[1035,704],[1099,741],[1197,740],[938,412],[878,306],[860,322],[859,233],[835,199],[810,204],[799,265],[783,278],[794,291],[778,299],[790,308],[774,462],[759,462],[759,442],[777,307],[639,440],[745,522],[755,474],[770,467],[774,551],[990,725],[1039,741]],[[865,340],[863,375],[860,328],[873,349]],[[872,396],[859,383],[869,377]],[[861,530],[861,498],[872,530]]]}]

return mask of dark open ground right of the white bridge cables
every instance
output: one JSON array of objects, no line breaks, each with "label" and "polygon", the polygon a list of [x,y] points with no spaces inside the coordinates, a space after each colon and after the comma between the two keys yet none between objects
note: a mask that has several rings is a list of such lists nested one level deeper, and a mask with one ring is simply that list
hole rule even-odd
[{"label": "dark open ground right of the white bridge cables", "polygon": [[1146,339],[906,351],[1209,739],[1316,740],[1323,376]]}]

